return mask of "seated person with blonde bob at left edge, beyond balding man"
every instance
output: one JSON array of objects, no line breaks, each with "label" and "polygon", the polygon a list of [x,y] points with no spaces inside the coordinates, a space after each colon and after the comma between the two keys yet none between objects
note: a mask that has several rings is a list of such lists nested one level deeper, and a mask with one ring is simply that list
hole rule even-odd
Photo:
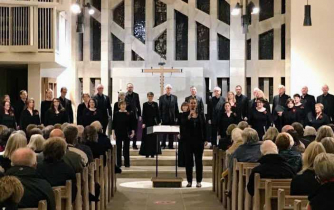
[{"label": "seated person with blonde bob at left edge, beyond balding man", "polygon": [[11,167],[11,156],[18,148],[26,147],[27,139],[19,133],[12,134],[7,142],[5,152],[0,155],[0,171],[5,172]]}]

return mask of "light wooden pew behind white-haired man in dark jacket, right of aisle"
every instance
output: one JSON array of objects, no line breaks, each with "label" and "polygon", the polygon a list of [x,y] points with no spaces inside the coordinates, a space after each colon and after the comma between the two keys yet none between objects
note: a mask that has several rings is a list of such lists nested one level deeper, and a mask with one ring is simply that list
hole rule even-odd
[{"label": "light wooden pew behind white-haired man in dark jacket, right of aisle", "polygon": [[[253,210],[263,210],[265,205],[265,185],[271,180],[272,186],[290,186],[291,179],[261,179],[260,174],[254,176]],[[268,201],[267,201],[268,202]],[[267,206],[267,208],[269,208]]]}]

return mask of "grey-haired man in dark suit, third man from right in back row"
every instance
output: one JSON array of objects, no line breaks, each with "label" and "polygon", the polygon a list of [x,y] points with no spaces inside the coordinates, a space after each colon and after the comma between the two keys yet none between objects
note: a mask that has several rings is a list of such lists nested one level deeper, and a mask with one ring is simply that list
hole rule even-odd
[{"label": "grey-haired man in dark suit, third man from right in back row", "polygon": [[290,98],[289,95],[285,94],[284,85],[278,86],[278,95],[274,96],[273,99],[273,110],[272,115],[275,123],[275,127],[278,131],[282,130],[282,114],[287,109],[286,101]]}]

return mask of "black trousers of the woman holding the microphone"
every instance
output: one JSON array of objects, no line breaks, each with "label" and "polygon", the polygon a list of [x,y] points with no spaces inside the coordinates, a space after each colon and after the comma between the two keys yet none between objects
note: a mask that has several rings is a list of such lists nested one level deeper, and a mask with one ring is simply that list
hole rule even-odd
[{"label": "black trousers of the woman holding the microphone", "polygon": [[196,181],[202,182],[203,179],[203,142],[185,142],[185,156],[186,156],[186,174],[187,181],[193,180],[193,165],[195,157],[196,165]]}]

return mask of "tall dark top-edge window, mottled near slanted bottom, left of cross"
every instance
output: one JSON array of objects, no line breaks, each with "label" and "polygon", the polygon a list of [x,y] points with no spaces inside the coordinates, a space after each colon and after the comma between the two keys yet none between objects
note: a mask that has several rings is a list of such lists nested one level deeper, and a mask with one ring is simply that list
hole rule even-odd
[{"label": "tall dark top-edge window, mottled near slanted bottom, left of cross", "polygon": [[145,0],[134,0],[133,35],[145,44]]}]

